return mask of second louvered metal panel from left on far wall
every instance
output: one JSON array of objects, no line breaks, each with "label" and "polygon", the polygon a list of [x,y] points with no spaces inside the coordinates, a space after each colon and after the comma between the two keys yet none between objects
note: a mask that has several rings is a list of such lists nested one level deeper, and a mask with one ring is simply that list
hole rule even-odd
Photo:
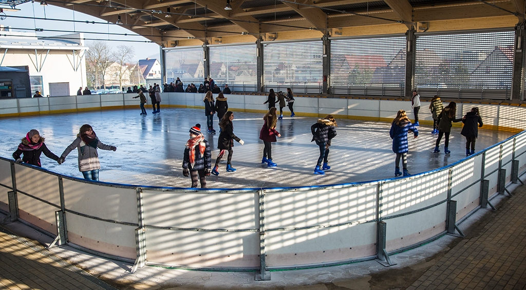
[{"label": "second louvered metal panel from left on far wall", "polygon": [[221,88],[232,92],[257,92],[256,44],[209,46],[210,76]]}]

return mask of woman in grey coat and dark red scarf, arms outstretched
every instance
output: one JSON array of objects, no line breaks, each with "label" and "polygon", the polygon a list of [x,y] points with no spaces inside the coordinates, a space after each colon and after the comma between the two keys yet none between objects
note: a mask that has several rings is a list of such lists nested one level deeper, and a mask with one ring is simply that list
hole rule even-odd
[{"label": "woman in grey coat and dark red scarf, arms outstretched", "polygon": [[100,142],[92,126],[88,124],[80,126],[77,138],[60,155],[59,164],[64,162],[75,147],[78,149],[78,171],[82,172],[84,179],[94,181],[98,181],[100,169],[97,148],[117,151],[117,147]]}]

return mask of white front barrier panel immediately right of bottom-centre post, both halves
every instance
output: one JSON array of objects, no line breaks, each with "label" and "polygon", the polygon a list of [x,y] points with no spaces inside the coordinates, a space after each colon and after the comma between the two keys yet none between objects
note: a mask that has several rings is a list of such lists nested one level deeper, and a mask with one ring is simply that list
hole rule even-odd
[{"label": "white front barrier panel immediately right of bottom-centre post, both halves", "polygon": [[[267,265],[374,255],[377,184],[265,193]],[[345,224],[345,225],[339,225]],[[339,225],[339,226],[335,226]],[[301,229],[304,227],[312,227]]]}]

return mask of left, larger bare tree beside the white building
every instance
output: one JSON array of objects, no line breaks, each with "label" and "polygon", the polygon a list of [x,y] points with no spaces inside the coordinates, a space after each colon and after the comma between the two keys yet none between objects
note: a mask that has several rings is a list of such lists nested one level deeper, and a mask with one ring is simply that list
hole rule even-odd
[{"label": "left, larger bare tree beside the white building", "polygon": [[112,48],[105,41],[100,40],[89,43],[88,47],[86,54],[88,83],[97,88],[104,88],[106,69],[113,63],[115,57]]}]

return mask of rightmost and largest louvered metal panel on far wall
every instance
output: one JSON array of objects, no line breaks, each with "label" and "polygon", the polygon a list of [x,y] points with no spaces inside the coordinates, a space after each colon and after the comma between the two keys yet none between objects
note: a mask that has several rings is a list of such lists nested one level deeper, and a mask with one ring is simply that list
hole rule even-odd
[{"label": "rightmost and largest louvered metal panel on far wall", "polygon": [[514,32],[417,36],[414,86],[421,96],[508,99]]}]

